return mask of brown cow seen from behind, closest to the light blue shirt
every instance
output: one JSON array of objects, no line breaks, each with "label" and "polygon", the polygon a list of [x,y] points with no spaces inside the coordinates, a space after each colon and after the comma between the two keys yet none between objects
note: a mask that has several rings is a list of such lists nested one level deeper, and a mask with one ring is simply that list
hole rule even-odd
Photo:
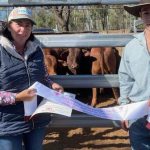
[{"label": "brown cow seen from behind, closest to the light blue shirt", "polygon": [[[115,74],[117,73],[116,49],[111,47],[92,48],[90,56],[95,59],[92,62],[92,74]],[[119,90],[112,88],[115,99],[119,97]],[[97,104],[97,89],[93,88],[91,105]]]}]

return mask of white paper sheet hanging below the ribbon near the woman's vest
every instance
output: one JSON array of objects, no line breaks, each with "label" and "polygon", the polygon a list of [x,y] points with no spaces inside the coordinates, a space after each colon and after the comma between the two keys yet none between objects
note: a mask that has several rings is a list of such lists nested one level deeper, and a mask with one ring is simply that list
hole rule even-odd
[{"label": "white paper sheet hanging below the ribbon near the woman's vest", "polygon": [[72,113],[72,109],[68,106],[57,104],[57,103],[44,99],[39,104],[38,108],[35,110],[32,116],[39,114],[39,113],[55,113],[55,114],[60,114],[60,115],[70,117]]}]

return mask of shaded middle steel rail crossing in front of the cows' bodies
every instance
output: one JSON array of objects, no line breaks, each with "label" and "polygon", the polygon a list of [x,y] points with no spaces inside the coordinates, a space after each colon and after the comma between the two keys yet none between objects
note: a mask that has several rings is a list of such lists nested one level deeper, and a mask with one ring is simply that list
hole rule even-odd
[{"label": "shaded middle steel rail crossing in front of the cows' bodies", "polygon": [[118,75],[53,75],[51,79],[64,88],[119,87]]}]

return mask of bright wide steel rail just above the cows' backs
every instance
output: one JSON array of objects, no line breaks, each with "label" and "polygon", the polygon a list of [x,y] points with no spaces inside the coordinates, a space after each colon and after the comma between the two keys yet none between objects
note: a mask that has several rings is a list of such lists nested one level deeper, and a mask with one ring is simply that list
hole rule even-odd
[{"label": "bright wide steel rail just above the cows' backs", "polygon": [[51,34],[36,35],[42,47],[123,47],[131,39],[132,34]]}]

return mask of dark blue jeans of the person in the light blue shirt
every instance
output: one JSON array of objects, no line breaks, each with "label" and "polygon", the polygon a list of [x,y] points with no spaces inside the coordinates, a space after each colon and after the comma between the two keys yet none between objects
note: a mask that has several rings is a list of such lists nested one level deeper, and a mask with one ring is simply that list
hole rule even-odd
[{"label": "dark blue jeans of the person in the light blue shirt", "polygon": [[150,150],[150,130],[146,128],[146,117],[138,119],[129,129],[132,150]]}]

